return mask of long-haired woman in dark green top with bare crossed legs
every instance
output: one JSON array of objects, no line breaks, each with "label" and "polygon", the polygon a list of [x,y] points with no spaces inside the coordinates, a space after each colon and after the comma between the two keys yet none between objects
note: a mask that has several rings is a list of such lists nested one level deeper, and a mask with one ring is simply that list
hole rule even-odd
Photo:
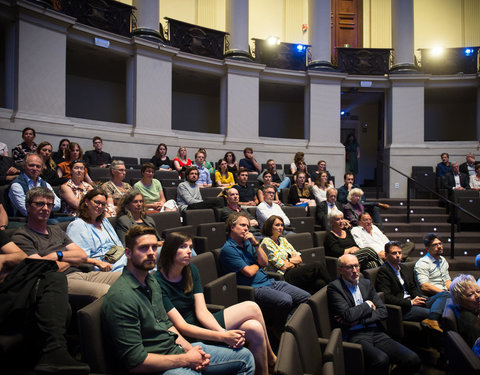
[{"label": "long-haired woman in dark green top with bare crossed legs", "polygon": [[162,287],[168,317],[183,336],[232,348],[246,343],[255,358],[255,374],[267,375],[277,358],[260,308],[248,301],[210,313],[198,269],[190,264],[191,248],[192,239],[179,232],[170,233],[163,244],[155,278]]}]

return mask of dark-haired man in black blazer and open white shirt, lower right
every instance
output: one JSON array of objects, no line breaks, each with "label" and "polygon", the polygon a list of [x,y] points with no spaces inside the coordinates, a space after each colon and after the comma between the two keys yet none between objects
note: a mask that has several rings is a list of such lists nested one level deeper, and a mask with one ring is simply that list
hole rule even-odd
[{"label": "dark-haired man in black blazer and open white shirt, lower right", "polygon": [[[388,242],[385,245],[386,262],[380,267],[375,281],[375,289],[383,292],[385,302],[402,308],[404,320],[422,322],[423,325],[437,331],[442,331],[438,325],[441,313],[435,304],[418,293],[413,275],[402,272],[401,243]],[[427,307],[428,305],[428,307]]]}]

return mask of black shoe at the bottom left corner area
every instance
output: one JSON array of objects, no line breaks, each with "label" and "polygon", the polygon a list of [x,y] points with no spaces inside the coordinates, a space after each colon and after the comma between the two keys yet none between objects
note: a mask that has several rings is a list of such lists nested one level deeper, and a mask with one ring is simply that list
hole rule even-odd
[{"label": "black shoe at the bottom left corner area", "polygon": [[83,375],[90,373],[90,367],[73,359],[64,348],[43,353],[34,370],[40,374]]}]

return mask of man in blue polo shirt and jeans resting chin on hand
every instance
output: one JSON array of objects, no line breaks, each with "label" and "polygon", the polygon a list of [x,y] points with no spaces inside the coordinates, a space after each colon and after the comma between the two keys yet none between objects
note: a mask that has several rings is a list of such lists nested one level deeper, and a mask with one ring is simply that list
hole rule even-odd
[{"label": "man in blue polo shirt and jeans resting chin on hand", "polygon": [[[270,189],[274,190],[273,187]],[[255,288],[255,301],[262,309],[274,310],[276,325],[281,327],[298,305],[307,301],[310,294],[285,281],[268,278],[264,270],[268,265],[267,255],[249,232],[249,226],[248,217],[242,213],[228,217],[228,238],[220,252],[220,264],[225,272],[237,274],[239,285]]]}]

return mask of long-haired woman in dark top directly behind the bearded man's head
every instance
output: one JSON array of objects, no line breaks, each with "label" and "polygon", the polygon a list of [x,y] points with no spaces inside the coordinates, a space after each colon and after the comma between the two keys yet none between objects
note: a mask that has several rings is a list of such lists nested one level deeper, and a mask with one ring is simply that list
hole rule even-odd
[{"label": "long-haired woman in dark top directly behind the bearded man's head", "polygon": [[[132,189],[126,192],[117,209],[117,221],[115,223],[115,231],[118,238],[125,244],[125,233],[134,225],[144,225],[146,227],[155,228],[155,221],[145,213],[145,204],[143,195],[138,190]],[[162,246],[163,241],[157,232],[158,246]]]}]

